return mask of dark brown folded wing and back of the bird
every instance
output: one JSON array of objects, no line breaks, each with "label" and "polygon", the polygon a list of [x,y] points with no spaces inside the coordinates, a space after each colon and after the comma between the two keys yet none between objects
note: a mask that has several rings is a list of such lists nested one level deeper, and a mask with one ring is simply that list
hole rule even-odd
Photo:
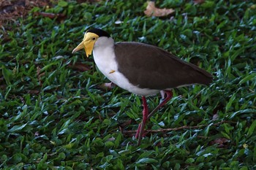
[{"label": "dark brown folded wing and back of the bird", "polygon": [[139,42],[118,42],[115,53],[118,71],[140,88],[165,90],[181,85],[208,85],[212,81],[208,72],[159,47]]}]

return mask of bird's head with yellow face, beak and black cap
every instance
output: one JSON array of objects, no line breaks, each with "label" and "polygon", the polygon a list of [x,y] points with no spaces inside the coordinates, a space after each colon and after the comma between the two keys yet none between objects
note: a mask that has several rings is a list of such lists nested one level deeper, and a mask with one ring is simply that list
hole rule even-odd
[{"label": "bird's head with yellow face, beak and black cap", "polygon": [[78,47],[75,47],[72,53],[75,53],[76,51],[84,48],[84,50],[86,51],[86,57],[89,57],[92,50],[94,49],[95,42],[97,42],[97,39],[99,39],[100,36],[110,37],[110,35],[102,29],[89,29],[88,31],[86,31],[86,34],[84,34],[83,41],[78,45]]}]

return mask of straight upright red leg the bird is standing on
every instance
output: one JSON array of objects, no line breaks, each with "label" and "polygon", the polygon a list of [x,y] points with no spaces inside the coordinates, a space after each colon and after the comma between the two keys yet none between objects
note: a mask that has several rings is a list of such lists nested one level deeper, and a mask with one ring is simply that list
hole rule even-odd
[{"label": "straight upright red leg the bird is standing on", "polygon": [[140,123],[135,138],[138,138],[138,145],[140,145],[140,141],[142,139],[143,131],[146,125],[146,121],[148,120],[148,104],[146,101],[146,97],[142,96],[142,101],[143,101],[143,119],[142,123]]}]

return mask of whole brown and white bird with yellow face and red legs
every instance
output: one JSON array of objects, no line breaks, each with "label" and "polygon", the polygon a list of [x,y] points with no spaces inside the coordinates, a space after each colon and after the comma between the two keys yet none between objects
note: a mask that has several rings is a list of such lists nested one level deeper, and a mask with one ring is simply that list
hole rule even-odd
[{"label": "whole brown and white bird with yellow face and red legs", "polygon": [[[140,145],[147,120],[173,97],[172,89],[188,85],[210,85],[213,76],[192,63],[154,45],[141,42],[114,42],[108,32],[90,28],[72,53],[84,49],[102,74],[124,90],[142,96],[143,120],[135,138]],[[148,112],[146,96],[162,94],[162,102]]]}]

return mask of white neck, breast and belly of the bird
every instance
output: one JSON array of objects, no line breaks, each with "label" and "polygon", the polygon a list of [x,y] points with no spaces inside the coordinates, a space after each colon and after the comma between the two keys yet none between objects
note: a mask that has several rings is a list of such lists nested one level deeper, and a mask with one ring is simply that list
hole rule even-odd
[{"label": "white neck, breast and belly of the bird", "polygon": [[121,72],[118,72],[118,65],[116,63],[116,55],[113,50],[113,39],[108,37],[99,37],[94,45],[94,61],[102,74],[105,75],[111,82],[124,88],[129,92],[141,95],[151,96],[159,92],[159,90],[151,90],[147,88],[138,88],[132,85]]}]

